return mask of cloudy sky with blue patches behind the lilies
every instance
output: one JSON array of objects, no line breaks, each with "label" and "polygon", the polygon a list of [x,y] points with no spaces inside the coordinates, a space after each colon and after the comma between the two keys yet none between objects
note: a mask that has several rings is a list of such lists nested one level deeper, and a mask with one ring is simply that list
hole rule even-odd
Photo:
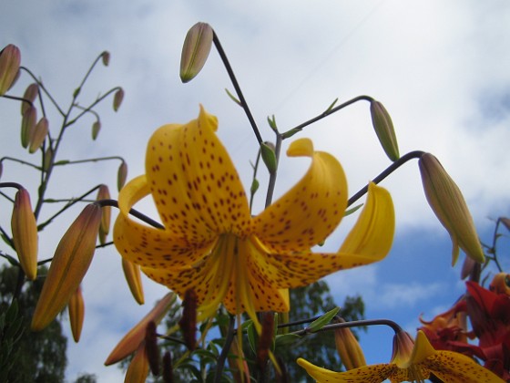
[{"label": "cloudy sky with blue patches behind the lilies", "polygon": [[[490,239],[490,218],[510,215],[510,5],[505,0],[405,5],[396,0],[3,0],[0,47],[19,47],[23,65],[43,78],[63,107],[92,60],[103,50],[111,53],[110,66],[97,67],[82,100],[85,104],[87,97],[118,85],[126,91],[125,102],[117,113],[109,100],[98,109],[103,128],[94,144],[89,139],[94,119],[70,130],[62,159],[117,154],[128,161],[129,178],[137,176],[154,129],[196,118],[201,103],[219,117],[219,137],[249,185],[256,140],[242,110],[225,94],[224,88],[232,87],[216,51],[198,78],[189,84],[179,80],[182,42],[198,21],[215,28],[265,140],[273,139],[269,115],[286,130],[321,113],[335,98],[369,95],[392,115],[401,154],[425,150],[442,161],[464,192],[483,239]],[[24,75],[11,93],[23,94],[29,83]],[[19,106],[13,104],[0,99],[0,155],[29,159],[18,146]],[[46,107],[50,129],[56,129],[60,121]],[[366,102],[321,120],[301,137],[341,160],[350,194],[390,164]],[[102,182],[115,198],[117,166],[110,161],[56,172],[48,196],[76,196]],[[308,163],[282,157],[280,166],[277,195]],[[30,184],[26,169],[4,168],[2,181]],[[367,316],[394,319],[414,331],[421,313],[431,318],[462,294],[458,275],[464,255],[457,267],[450,266],[451,243],[424,199],[416,161],[382,185],[392,192],[396,210],[392,253],[381,264],[333,274],[328,282],[338,303],[345,295],[362,294]],[[0,202],[0,207],[9,204]],[[154,214],[150,206],[147,212]],[[76,213],[41,233],[41,258],[52,254]],[[1,219],[8,224],[8,216]],[[338,248],[352,223],[346,219],[325,246]],[[115,250],[97,252],[84,282],[82,340],[69,341],[69,379],[82,371],[97,374],[100,382],[121,377],[117,367],[102,365],[117,340],[165,292],[148,280],[145,288],[148,304],[138,307]],[[389,360],[388,334],[371,329],[362,336],[369,362]]]}]

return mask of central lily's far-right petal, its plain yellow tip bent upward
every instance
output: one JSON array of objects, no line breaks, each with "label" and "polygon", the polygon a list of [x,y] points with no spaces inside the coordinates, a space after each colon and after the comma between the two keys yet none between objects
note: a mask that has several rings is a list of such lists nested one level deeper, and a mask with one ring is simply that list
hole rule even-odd
[{"label": "central lily's far-right petal, its plain yellow tip bent upward", "polygon": [[339,253],[271,254],[254,239],[260,254],[252,257],[250,268],[280,288],[299,287],[317,281],[334,271],[380,261],[389,253],[393,242],[394,212],[388,191],[371,183],[367,202]]}]

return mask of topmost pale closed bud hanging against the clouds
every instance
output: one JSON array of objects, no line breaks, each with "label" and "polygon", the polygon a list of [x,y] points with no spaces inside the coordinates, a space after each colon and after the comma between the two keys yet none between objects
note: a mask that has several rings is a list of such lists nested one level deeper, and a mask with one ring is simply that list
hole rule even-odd
[{"label": "topmost pale closed bud hanging against the clouds", "polygon": [[214,32],[207,23],[197,23],[188,31],[180,56],[180,80],[189,82],[195,78],[209,57]]}]

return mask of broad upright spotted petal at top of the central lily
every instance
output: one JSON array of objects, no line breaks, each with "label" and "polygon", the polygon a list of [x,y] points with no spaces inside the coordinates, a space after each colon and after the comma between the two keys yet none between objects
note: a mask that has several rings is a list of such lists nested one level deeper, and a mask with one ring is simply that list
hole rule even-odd
[{"label": "broad upright spotted petal at top of the central lily", "polygon": [[250,231],[248,200],[217,126],[200,107],[198,119],[165,125],[148,142],[147,181],[159,216],[189,243]]}]

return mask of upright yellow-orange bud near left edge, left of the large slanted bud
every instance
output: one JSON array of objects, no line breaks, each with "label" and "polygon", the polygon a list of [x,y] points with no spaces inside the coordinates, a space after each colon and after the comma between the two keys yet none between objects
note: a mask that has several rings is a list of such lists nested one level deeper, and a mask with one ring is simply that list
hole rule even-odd
[{"label": "upright yellow-orange bud near left edge, left of the large slanted bud", "polygon": [[37,276],[37,223],[26,189],[16,192],[11,227],[19,263],[33,281]]}]

